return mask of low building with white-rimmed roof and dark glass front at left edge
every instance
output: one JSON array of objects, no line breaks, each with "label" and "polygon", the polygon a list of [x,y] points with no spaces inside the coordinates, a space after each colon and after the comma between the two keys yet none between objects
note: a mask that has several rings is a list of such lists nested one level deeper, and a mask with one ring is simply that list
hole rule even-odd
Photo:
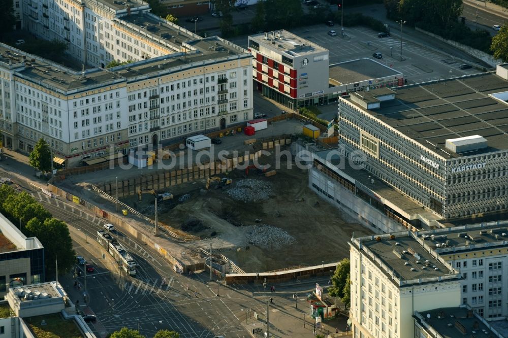
[{"label": "low building with white-rimmed roof and dark glass front at left edge", "polygon": [[26,238],[0,214],[0,298],[9,288],[44,281],[44,247],[35,237]]}]

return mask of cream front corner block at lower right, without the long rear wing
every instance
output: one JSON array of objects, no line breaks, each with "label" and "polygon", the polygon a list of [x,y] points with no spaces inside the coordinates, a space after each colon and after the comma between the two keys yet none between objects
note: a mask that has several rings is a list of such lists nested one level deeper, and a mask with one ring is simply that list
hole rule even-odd
[{"label": "cream front corner block at lower right, without the long rear wing", "polygon": [[355,338],[414,336],[415,311],[460,304],[460,273],[409,231],[350,242]]}]

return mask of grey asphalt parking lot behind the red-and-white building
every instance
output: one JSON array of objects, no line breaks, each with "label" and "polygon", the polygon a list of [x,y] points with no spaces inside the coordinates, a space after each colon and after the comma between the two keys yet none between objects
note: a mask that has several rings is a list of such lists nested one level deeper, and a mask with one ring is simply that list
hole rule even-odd
[{"label": "grey asphalt parking lot behind the red-and-white building", "polygon": [[[337,32],[337,36],[327,34],[331,29]],[[398,35],[378,38],[377,31],[366,27],[345,27],[344,37],[341,36],[340,25],[337,24],[333,27],[328,27],[325,24],[299,27],[292,29],[291,32],[328,48],[330,50],[330,64],[364,57],[373,58],[373,53],[380,52],[383,54],[383,58],[377,61],[404,74],[408,83],[449,79],[480,72],[474,68],[460,70],[459,67],[462,64],[460,60],[424,49],[404,40],[402,41],[401,61]],[[404,35],[402,37],[404,38]],[[247,48],[246,36],[233,38],[230,41]]]}]

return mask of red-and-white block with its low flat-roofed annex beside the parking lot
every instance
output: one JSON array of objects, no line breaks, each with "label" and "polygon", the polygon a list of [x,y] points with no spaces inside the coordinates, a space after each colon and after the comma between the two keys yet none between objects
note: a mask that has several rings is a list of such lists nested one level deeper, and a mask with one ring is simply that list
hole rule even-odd
[{"label": "red-and-white block with its low flat-roofed annex beside the parking lot", "polygon": [[248,37],[258,91],[290,109],[337,102],[346,93],[403,84],[402,74],[364,58],[330,66],[328,49],[286,30]]}]

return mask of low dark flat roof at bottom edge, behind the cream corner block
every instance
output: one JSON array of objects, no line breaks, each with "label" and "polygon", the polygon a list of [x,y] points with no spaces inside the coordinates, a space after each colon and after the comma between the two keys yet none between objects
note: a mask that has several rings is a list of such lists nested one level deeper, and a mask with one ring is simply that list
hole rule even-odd
[{"label": "low dark flat roof at bottom edge, behind the cream corner block", "polygon": [[419,314],[443,338],[459,336],[492,338],[499,336],[485,324],[484,320],[474,316],[473,310],[467,308],[439,308],[419,312]]}]

